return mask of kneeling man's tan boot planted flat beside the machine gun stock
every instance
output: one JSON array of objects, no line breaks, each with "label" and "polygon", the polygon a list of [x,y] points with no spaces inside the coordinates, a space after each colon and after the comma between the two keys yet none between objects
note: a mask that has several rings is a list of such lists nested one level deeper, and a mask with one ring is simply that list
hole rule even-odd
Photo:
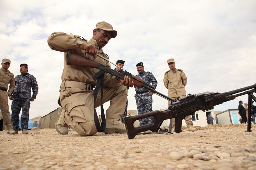
[{"label": "kneeling man's tan boot planted flat beside the machine gun stock", "polygon": [[126,133],[126,128],[120,119],[106,119],[106,129],[103,132]]}]

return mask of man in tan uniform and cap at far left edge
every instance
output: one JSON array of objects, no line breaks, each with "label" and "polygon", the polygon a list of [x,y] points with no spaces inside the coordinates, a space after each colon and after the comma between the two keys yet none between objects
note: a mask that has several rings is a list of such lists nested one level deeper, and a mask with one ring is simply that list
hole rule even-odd
[{"label": "man in tan uniform and cap at far left edge", "polygon": [[[2,68],[0,69],[0,109],[2,110],[2,115],[4,119],[4,124],[7,126],[7,134],[15,134],[12,128],[12,122],[10,118],[8,96],[11,95],[15,87],[15,81],[13,74],[8,70],[11,64],[11,60],[3,59]],[[9,90],[8,89],[8,85]]]}]

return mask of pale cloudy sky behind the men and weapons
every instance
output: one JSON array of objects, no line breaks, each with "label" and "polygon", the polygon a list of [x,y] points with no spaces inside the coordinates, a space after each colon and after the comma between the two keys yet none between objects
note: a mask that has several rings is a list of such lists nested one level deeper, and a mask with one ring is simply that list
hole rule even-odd
[{"label": "pale cloudy sky behind the men and weapons", "polygon": [[[143,62],[145,71],[156,77],[158,92],[167,95],[163,78],[169,58],[185,72],[187,94],[228,92],[256,83],[255,8],[254,0],[0,0],[1,60],[11,60],[14,76],[27,63],[36,78],[39,92],[30,104],[30,118],[59,107],[63,53],[49,48],[48,36],[64,32],[89,40],[99,21],[117,31],[103,47],[109,60],[124,60],[124,70],[133,75],[138,74],[135,65]],[[137,110],[134,94],[130,88],[128,110]],[[214,110],[237,108],[239,100],[248,102],[248,95]],[[167,108],[167,100],[153,95],[152,108]]]}]

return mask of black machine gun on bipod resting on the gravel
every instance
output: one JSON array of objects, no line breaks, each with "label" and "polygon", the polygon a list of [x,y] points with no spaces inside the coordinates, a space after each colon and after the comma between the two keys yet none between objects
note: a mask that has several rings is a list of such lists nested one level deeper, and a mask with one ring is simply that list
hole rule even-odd
[{"label": "black machine gun on bipod resting on the gravel", "polygon": [[[164,110],[164,111],[156,110],[156,111],[148,112],[141,115],[126,116],[124,117],[124,122],[127,130],[128,138],[129,139],[134,138],[136,134],[139,134],[140,132],[144,132],[146,130],[151,130],[152,132],[156,132],[164,120],[171,119],[171,118],[175,118],[174,131],[176,133],[180,133],[182,120],[185,116],[193,115],[198,110],[202,110],[202,111],[211,110],[216,105],[222,104],[229,100],[234,100],[236,97],[244,94],[249,95],[248,122],[250,122],[249,118],[251,118],[250,116],[251,102],[252,102],[251,100],[254,99],[256,101],[256,98],[252,93],[255,93],[255,92],[256,92],[256,84],[247,86],[244,88],[240,88],[237,90],[233,90],[230,92],[224,92],[224,93],[204,92],[204,93],[199,93],[195,95],[188,94],[187,97],[180,99],[179,101],[172,102],[170,107],[167,110]],[[149,116],[154,117],[154,120],[151,124],[142,125],[138,127],[133,126],[133,123],[136,120],[143,119]],[[251,131],[250,129],[251,129],[251,123],[248,123],[247,131]]]}]

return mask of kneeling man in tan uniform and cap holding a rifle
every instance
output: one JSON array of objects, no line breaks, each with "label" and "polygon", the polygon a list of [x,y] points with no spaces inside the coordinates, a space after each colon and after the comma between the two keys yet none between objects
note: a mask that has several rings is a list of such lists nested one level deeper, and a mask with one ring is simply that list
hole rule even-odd
[{"label": "kneeling man in tan uniform and cap holding a rifle", "polygon": [[[62,72],[62,83],[60,87],[60,117],[58,118],[55,129],[60,134],[68,134],[68,126],[81,136],[90,136],[97,133],[94,123],[94,106],[101,104],[101,94],[97,95],[94,105],[94,90],[96,81],[92,76],[99,69],[67,65],[68,56],[71,52],[83,55],[92,61],[111,67],[110,63],[100,57],[94,58],[93,55],[99,54],[106,59],[102,48],[108,44],[111,38],[115,38],[117,31],[107,22],[98,22],[93,29],[92,39],[85,40],[79,35],[66,33],[52,33],[48,37],[48,45],[51,49],[64,52],[64,69]],[[122,84],[121,84],[121,83]],[[131,78],[124,77],[124,80],[104,74],[103,103],[111,100],[111,104],[106,111],[106,129],[104,133],[126,133],[120,116],[124,113],[127,100],[127,87],[133,86]],[[99,90],[100,91],[100,90]]]}]

